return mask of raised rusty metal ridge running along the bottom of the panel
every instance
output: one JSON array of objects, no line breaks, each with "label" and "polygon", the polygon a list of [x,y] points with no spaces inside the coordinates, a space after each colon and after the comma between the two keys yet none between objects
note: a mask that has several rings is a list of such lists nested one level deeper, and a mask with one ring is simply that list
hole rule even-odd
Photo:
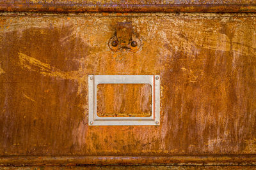
[{"label": "raised rusty metal ridge running along the bottom of the panel", "polygon": [[1,156],[0,166],[255,166],[256,155]]}]

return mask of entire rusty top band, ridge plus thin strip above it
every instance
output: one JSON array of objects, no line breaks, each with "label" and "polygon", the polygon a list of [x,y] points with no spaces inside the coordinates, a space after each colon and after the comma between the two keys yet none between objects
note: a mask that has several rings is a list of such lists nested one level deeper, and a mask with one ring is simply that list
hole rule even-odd
[{"label": "entire rusty top band, ridge plus thin strip above it", "polygon": [[179,1],[0,1],[0,11],[65,12],[256,12],[254,0],[179,0]]}]

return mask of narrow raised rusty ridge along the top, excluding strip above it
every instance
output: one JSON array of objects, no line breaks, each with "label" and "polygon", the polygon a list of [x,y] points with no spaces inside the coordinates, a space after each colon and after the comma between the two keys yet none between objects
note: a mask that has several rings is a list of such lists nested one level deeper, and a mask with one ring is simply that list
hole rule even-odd
[{"label": "narrow raised rusty ridge along the top, excluding strip above it", "polygon": [[256,4],[0,4],[19,12],[239,12],[255,13]]}]

